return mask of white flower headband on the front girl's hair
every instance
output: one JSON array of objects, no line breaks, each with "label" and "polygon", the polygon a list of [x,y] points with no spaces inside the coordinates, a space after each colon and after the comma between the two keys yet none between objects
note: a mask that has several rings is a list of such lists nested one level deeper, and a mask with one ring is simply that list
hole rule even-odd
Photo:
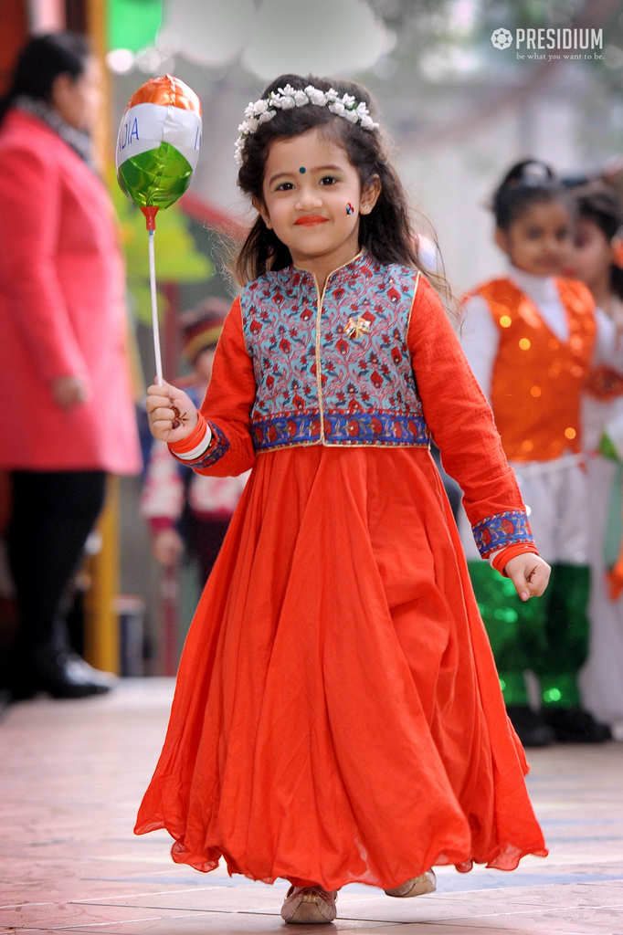
[{"label": "white flower headband on the front girl's hair", "polygon": [[277,94],[271,91],[268,97],[262,97],[255,103],[251,101],[249,107],[245,109],[246,120],[240,123],[238,128],[240,136],[236,140],[235,159],[238,165],[242,165],[242,150],[246,140],[256,133],[261,123],[272,120],[278,110],[302,108],[306,104],[315,104],[319,108],[328,106],[332,113],[351,123],[358,123],[363,130],[376,130],[379,125],[370,117],[365,101],[360,101],[355,105],[355,97],[352,94],[344,94],[340,97],[333,88],[320,91],[312,84],[308,84],[305,91],[297,91],[291,84],[286,84],[284,88],[278,89]]}]

